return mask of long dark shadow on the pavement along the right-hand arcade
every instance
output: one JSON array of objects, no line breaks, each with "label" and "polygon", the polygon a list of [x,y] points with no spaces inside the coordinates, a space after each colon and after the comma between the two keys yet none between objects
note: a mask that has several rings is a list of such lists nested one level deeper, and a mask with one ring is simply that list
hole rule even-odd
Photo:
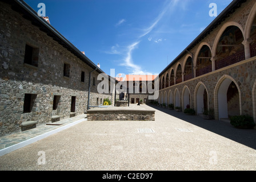
[{"label": "long dark shadow on the pavement along the right-hand arcade", "polygon": [[159,106],[149,105],[156,110],[162,111],[166,114],[170,114],[173,117],[182,119],[183,121],[189,122],[193,125],[209,130],[215,134],[221,135],[222,137],[229,138],[235,142],[244,144],[247,147],[251,147],[256,150],[256,130],[255,129],[237,129],[230,125],[230,123],[217,121],[217,120],[206,120],[198,115],[186,115],[183,112],[177,112],[175,110],[169,110]]}]

